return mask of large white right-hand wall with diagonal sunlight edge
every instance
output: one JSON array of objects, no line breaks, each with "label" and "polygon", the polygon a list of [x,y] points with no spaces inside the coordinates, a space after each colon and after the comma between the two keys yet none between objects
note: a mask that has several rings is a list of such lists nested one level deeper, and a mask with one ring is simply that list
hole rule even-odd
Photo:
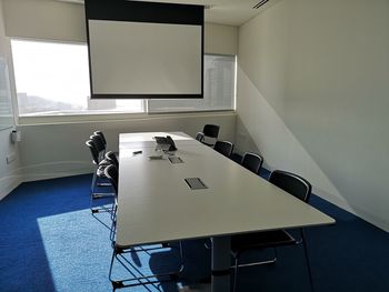
[{"label": "large white right-hand wall with diagonal sunlight edge", "polygon": [[389,230],[389,1],[283,0],[239,29],[237,143]]}]

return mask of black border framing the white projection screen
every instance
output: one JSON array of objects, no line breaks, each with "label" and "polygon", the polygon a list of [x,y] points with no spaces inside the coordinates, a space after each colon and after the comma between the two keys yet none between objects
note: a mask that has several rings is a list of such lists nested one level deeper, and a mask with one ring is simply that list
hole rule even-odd
[{"label": "black border framing the white projection screen", "polygon": [[[146,2],[131,0],[84,0],[90,88],[92,99],[202,99],[203,98],[203,6]],[[201,93],[200,94],[94,94],[89,48],[89,20],[173,23],[201,26]]]}]

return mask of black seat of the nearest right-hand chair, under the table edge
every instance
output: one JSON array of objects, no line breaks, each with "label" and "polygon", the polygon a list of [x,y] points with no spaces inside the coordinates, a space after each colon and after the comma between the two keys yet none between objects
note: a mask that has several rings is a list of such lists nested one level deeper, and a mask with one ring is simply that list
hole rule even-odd
[{"label": "black seat of the nearest right-hand chair, under the table edge", "polygon": [[231,236],[231,251],[237,253],[248,250],[291,245],[296,243],[296,239],[285,230],[246,233]]}]

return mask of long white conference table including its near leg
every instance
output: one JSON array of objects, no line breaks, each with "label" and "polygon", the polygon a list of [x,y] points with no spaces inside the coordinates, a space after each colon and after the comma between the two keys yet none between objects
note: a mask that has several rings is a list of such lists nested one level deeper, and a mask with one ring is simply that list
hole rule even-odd
[{"label": "long white conference table including its near leg", "polygon": [[[166,135],[177,151],[156,148]],[[335,223],[186,133],[122,133],[119,151],[116,245],[211,238],[213,292],[230,291],[230,235]]]}]

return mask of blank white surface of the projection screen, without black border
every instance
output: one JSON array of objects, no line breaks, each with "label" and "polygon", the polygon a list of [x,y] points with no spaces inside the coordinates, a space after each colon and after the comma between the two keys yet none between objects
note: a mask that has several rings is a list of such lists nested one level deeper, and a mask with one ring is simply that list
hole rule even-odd
[{"label": "blank white surface of the projection screen, without black border", "polygon": [[202,94],[201,26],[89,20],[88,27],[93,94]]}]

